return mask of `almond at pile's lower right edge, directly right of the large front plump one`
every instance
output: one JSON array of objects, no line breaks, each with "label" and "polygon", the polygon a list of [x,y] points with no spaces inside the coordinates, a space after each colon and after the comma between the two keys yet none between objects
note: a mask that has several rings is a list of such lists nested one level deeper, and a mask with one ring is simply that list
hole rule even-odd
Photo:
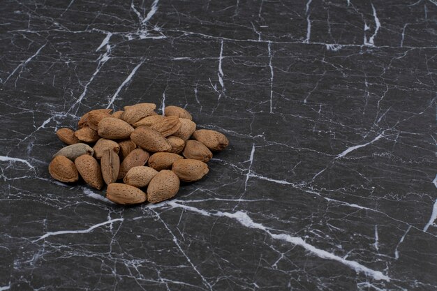
[{"label": "almond at pile's lower right edge, directly right of the large front plump one", "polygon": [[181,181],[193,182],[202,179],[209,172],[208,165],[202,161],[187,158],[173,163],[172,171]]}]

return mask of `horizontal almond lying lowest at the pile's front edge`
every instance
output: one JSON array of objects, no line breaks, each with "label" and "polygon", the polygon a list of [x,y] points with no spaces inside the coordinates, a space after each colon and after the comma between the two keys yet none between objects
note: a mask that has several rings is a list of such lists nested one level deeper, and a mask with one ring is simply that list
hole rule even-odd
[{"label": "horizontal almond lying lowest at the pile's front edge", "polygon": [[121,183],[109,184],[106,197],[117,204],[138,204],[147,199],[146,193],[140,189]]}]

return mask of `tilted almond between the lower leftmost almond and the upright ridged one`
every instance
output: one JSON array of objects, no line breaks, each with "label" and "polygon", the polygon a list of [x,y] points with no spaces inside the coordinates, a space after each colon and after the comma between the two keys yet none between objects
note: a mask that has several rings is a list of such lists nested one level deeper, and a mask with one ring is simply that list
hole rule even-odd
[{"label": "tilted almond between the lower leftmost almond and the upright ridged one", "polygon": [[100,190],[103,187],[103,178],[100,165],[95,158],[82,155],[75,159],[77,172],[91,187]]}]

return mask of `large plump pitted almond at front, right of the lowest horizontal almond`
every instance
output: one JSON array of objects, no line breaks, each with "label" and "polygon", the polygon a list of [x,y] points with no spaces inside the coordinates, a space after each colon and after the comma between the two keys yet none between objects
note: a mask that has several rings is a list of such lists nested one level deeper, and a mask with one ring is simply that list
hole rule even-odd
[{"label": "large plump pitted almond at front, right of the lowest horizontal almond", "polygon": [[179,191],[179,184],[179,178],[174,172],[170,170],[158,172],[147,186],[147,201],[157,203],[174,197]]}]

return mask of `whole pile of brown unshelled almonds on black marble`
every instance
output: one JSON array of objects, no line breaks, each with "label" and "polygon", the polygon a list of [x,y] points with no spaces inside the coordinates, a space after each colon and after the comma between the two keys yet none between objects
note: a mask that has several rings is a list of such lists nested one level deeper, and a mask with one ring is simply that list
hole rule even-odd
[{"label": "whole pile of brown unshelled almonds on black marble", "polygon": [[196,130],[184,108],[165,107],[164,115],[155,110],[154,103],[114,113],[91,110],[80,118],[76,131],[60,128],[59,140],[69,145],[54,154],[50,174],[67,183],[80,176],[98,190],[106,184],[106,197],[118,204],[174,197],[180,181],[202,179],[212,151],[221,151],[229,142],[215,130]]}]

